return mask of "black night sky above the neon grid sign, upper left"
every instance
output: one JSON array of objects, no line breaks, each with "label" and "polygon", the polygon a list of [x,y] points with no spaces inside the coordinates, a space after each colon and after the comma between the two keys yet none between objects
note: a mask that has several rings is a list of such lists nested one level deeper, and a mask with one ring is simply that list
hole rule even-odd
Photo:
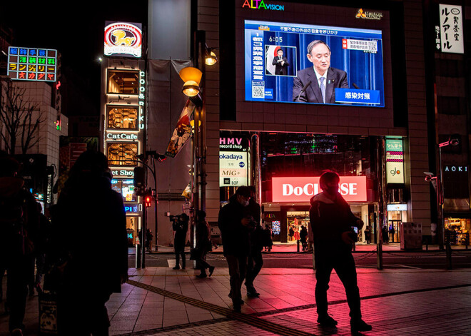
[{"label": "black night sky above the neon grid sign, upper left", "polygon": [[[105,21],[146,25],[147,0],[0,1],[0,20],[14,29],[14,46],[57,49],[63,74],[99,111],[100,65]],[[72,111],[71,114],[80,114]]]}]

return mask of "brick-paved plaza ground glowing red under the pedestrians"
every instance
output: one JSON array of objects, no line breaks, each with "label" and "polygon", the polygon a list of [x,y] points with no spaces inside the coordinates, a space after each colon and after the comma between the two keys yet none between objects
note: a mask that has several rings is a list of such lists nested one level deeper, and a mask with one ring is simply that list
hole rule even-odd
[{"label": "brick-paved plaza ground glowing red under the pedestrians", "polygon": [[[193,269],[131,269],[131,284],[107,303],[111,335],[350,335],[345,292],[332,276],[328,299],[337,330],[315,320],[313,270],[263,269],[255,280],[260,298],[245,296],[233,313],[227,268],[198,279]],[[198,271],[196,271],[198,273]],[[471,270],[358,268],[365,335],[470,335]],[[0,312],[1,312],[0,308]],[[0,317],[0,335],[7,317]],[[25,324],[36,335],[37,297],[29,300]]]}]

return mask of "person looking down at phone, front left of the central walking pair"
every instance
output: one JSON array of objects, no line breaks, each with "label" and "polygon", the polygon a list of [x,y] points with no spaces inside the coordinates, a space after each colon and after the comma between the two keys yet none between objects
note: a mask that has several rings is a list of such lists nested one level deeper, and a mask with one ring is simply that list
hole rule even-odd
[{"label": "person looking down at phone, front left of the central walking pair", "polygon": [[250,190],[241,186],[231,196],[229,203],[219,210],[218,227],[223,239],[223,253],[226,257],[231,283],[233,309],[240,312],[243,304],[240,287],[245,278],[247,257],[250,254],[250,230],[255,228],[248,209]]}]

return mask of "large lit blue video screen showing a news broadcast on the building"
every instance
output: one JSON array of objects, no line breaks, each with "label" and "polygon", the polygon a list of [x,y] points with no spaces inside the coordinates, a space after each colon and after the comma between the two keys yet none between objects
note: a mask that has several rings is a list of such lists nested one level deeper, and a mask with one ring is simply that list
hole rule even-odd
[{"label": "large lit blue video screen showing a news broadcast on the building", "polygon": [[244,43],[245,101],[385,106],[379,30],[245,20]]}]

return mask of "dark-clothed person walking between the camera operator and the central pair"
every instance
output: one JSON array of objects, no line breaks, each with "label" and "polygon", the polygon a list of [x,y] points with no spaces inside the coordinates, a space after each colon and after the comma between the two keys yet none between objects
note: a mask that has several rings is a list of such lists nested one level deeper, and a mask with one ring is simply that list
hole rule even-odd
[{"label": "dark-clothed person walking between the camera operator and the central pair", "polygon": [[198,259],[196,260],[196,268],[201,273],[196,275],[196,278],[206,278],[206,268],[209,270],[209,276],[213,275],[214,266],[211,266],[206,261],[206,254],[213,250],[213,243],[211,242],[211,228],[208,221],[206,221],[206,212],[198,210],[196,213],[196,250],[198,250]]}]

